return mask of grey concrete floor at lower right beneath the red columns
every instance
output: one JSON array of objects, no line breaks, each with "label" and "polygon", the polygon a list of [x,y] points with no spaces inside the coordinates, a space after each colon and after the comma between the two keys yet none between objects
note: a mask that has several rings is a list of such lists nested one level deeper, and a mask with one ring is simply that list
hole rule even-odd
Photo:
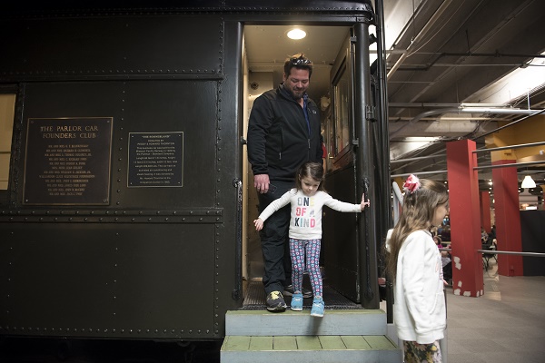
[{"label": "grey concrete floor at lower right beneath the red columns", "polygon": [[497,270],[490,260],[480,298],[447,289],[447,363],[545,362],[545,277]]}]

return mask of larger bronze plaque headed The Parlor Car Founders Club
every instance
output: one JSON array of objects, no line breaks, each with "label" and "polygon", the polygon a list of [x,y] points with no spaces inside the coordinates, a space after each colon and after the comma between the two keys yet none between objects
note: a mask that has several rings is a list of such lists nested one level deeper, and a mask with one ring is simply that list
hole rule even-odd
[{"label": "larger bronze plaque headed The Parlor Car Founders Club", "polygon": [[23,202],[110,202],[112,117],[28,119]]}]

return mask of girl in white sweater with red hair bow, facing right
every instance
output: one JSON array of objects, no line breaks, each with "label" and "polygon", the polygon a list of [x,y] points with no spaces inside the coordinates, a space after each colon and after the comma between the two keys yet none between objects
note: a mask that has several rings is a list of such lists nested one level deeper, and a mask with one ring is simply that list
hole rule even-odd
[{"label": "girl in white sweater with red hair bow, facing right", "polygon": [[410,175],[400,220],[389,232],[386,276],[394,284],[393,319],[404,340],[405,362],[441,362],[439,340],[446,328],[441,253],[431,238],[449,209],[441,182]]}]

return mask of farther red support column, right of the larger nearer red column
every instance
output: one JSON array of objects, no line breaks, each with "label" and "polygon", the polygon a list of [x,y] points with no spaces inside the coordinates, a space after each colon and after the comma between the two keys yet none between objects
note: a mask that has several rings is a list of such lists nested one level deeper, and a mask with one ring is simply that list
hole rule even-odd
[{"label": "farther red support column, right of the larger nearer red column", "polygon": [[[509,164],[514,160],[499,160],[492,165]],[[522,250],[519,209],[519,181],[517,168],[492,169],[494,210],[498,250]],[[522,276],[522,256],[498,255],[498,273],[503,276]]]}]

